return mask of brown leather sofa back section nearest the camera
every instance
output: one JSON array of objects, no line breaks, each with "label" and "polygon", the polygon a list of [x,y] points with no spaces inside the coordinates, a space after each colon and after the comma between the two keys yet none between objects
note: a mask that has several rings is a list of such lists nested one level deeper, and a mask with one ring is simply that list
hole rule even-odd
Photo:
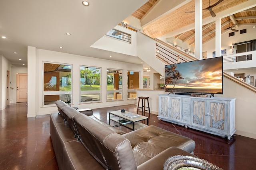
[{"label": "brown leather sofa back section nearest the camera", "polygon": [[137,169],[128,139],[84,114],[75,115],[74,121],[81,143],[104,168]]}]

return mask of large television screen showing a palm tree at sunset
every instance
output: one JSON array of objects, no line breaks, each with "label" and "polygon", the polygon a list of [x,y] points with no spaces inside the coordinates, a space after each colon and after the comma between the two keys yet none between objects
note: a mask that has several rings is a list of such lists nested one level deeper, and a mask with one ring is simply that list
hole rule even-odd
[{"label": "large television screen showing a palm tree at sunset", "polygon": [[223,94],[222,80],[222,57],[165,66],[166,92]]}]

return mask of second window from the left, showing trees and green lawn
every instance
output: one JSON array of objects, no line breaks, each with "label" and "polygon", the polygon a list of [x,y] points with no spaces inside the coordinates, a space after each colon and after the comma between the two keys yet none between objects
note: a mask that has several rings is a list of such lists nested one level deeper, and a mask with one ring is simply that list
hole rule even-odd
[{"label": "second window from the left, showing trees and green lawn", "polygon": [[101,101],[100,68],[80,66],[80,103]]}]

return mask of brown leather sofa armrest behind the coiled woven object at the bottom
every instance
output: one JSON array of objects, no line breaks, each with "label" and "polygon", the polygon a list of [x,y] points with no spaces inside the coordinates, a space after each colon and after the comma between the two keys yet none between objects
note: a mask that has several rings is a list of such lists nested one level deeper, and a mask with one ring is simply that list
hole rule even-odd
[{"label": "brown leather sofa armrest behind the coiled woven object at the bottom", "polygon": [[150,160],[144,162],[143,164],[140,164],[137,168],[138,170],[162,170],[164,168],[165,161],[175,155],[182,155],[182,156],[193,156],[197,158],[194,154],[191,154],[189,152],[186,152],[182,149],[176,148],[176,147],[170,147],[160,154],[154,156]]}]

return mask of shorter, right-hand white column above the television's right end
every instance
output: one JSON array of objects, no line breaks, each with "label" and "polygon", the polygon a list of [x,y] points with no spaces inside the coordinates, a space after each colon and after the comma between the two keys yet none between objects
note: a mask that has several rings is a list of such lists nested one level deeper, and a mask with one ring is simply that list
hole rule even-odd
[{"label": "shorter, right-hand white column above the television's right end", "polygon": [[221,19],[215,19],[215,56],[221,56]]}]

